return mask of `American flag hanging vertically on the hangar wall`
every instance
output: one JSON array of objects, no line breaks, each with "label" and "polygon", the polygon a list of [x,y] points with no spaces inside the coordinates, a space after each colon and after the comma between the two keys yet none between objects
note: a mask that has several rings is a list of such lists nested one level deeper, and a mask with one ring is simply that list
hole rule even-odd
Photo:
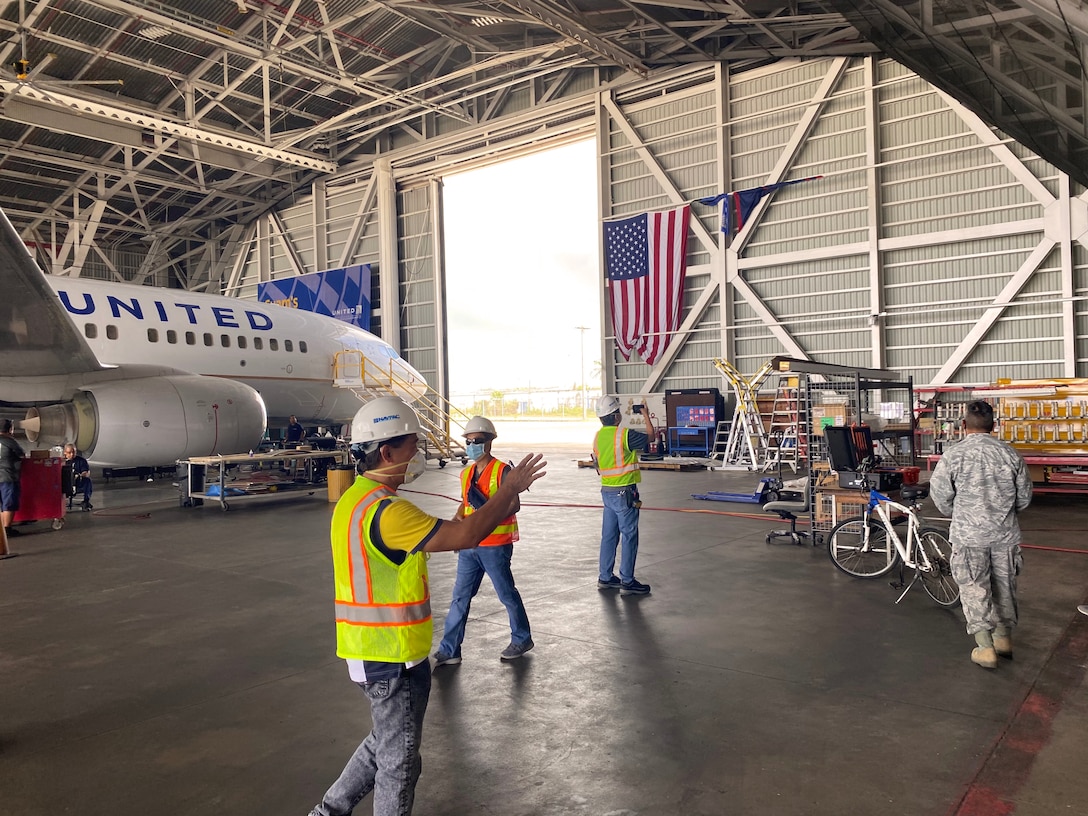
[{"label": "American flag hanging vertically on the hangar wall", "polygon": [[690,207],[605,223],[605,265],[616,345],[653,366],[680,327]]}]

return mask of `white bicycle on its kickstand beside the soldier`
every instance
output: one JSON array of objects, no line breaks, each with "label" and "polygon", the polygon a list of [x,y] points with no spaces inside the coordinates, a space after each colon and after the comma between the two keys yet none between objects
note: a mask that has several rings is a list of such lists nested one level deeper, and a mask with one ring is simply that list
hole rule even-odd
[{"label": "white bicycle on its kickstand beside the soldier", "polygon": [[[940,530],[923,527],[918,505],[929,495],[929,487],[907,485],[900,491],[907,504],[900,504],[875,490],[869,491],[869,503],[862,516],[836,524],[828,534],[827,552],[831,562],[854,578],[879,578],[890,572],[897,564],[914,569],[914,578],[895,599],[898,604],[917,581],[934,601],[941,606],[955,606],[960,601],[960,586],[952,578],[952,545]],[[892,512],[902,514],[892,519]],[[906,522],[903,541],[895,524]],[[900,580],[892,586],[903,586]]]}]

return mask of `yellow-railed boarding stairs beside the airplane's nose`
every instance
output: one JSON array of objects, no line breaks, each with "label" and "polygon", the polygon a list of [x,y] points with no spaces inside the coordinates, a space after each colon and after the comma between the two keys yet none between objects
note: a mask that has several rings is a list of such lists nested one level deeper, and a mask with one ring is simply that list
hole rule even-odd
[{"label": "yellow-railed boarding stairs beside the airplane's nose", "polygon": [[437,459],[440,468],[454,459],[460,459],[461,465],[468,462],[461,442],[468,415],[430,385],[405,380],[394,371],[392,359],[381,366],[361,351],[337,351],[333,359],[333,381],[337,387],[351,391],[363,403],[374,397],[400,397],[419,416],[429,459]]}]

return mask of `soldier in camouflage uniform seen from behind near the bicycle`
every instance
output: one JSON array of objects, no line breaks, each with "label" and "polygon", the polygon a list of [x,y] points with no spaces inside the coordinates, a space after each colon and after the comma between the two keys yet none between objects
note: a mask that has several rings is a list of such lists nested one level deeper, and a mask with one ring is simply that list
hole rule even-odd
[{"label": "soldier in camouflage uniform seen from behind near the bicycle", "polygon": [[990,436],[988,403],[967,405],[964,430],[963,441],[937,462],[929,495],[952,517],[952,577],[960,584],[967,634],[977,644],[970,659],[996,669],[998,655],[1013,655],[1016,576],[1024,561],[1016,515],[1031,502],[1031,478],[1021,455]]}]

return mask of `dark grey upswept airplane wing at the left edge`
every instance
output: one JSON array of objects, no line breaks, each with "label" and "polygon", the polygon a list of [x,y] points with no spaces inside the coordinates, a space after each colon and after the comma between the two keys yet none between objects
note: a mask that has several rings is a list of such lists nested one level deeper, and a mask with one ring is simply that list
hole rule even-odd
[{"label": "dark grey upswept airplane wing at the left edge", "polygon": [[0,372],[38,376],[101,368],[15,227],[0,212]]}]

